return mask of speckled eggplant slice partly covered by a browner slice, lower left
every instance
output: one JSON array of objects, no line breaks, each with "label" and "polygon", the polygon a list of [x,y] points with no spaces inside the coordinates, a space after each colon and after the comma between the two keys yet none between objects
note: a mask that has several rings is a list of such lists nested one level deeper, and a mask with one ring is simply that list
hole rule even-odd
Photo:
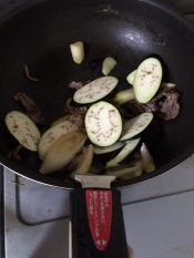
[{"label": "speckled eggplant slice partly covered by a browner slice, lower left", "polygon": [[49,148],[52,146],[52,144],[62,135],[67,134],[71,131],[76,131],[78,125],[75,123],[72,123],[69,120],[65,120],[52,127],[50,127],[45,133],[42,135],[40,142],[39,142],[39,156],[43,161],[45,158],[45,155],[49,151]]}]

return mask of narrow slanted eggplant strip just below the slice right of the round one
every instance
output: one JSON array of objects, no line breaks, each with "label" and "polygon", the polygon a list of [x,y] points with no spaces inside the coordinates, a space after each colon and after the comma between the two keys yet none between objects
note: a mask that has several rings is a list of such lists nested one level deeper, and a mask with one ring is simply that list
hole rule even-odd
[{"label": "narrow slanted eggplant strip just below the slice right of the round one", "polygon": [[111,161],[106,163],[106,167],[119,166],[119,163],[122,162],[139,144],[140,138],[129,141],[126,145],[121,149],[121,152]]}]

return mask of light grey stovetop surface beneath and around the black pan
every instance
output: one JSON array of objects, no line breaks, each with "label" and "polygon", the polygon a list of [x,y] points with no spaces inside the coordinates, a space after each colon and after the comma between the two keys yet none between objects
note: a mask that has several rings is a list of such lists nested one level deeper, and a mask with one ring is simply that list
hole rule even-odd
[{"label": "light grey stovetop surface beneath and around the black pan", "polygon": [[[194,4],[171,3],[194,21]],[[193,167],[194,155],[157,178],[120,189],[131,258],[194,257]],[[69,192],[3,167],[0,184],[1,257],[68,258]]]}]

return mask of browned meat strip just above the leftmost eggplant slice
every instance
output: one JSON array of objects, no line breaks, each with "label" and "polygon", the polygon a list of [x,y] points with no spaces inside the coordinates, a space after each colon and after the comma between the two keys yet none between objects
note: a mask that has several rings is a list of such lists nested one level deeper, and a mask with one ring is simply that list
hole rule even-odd
[{"label": "browned meat strip just above the leftmost eggplant slice", "polygon": [[35,124],[45,124],[44,118],[41,116],[41,112],[34,101],[29,97],[25,93],[17,93],[13,99],[20,101],[23,107],[27,110],[25,114],[35,123]]}]

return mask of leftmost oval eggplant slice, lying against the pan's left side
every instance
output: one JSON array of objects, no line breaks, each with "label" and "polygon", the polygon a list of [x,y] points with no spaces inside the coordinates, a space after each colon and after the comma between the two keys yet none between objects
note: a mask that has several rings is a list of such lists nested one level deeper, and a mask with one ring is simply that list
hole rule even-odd
[{"label": "leftmost oval eggplant slice, lying against the pan's left side", "polygon": [[12,111],[6,116],[6,125],[18,142],[30,151],[38,151],[41,134],[37,125],[25,114]]}]

